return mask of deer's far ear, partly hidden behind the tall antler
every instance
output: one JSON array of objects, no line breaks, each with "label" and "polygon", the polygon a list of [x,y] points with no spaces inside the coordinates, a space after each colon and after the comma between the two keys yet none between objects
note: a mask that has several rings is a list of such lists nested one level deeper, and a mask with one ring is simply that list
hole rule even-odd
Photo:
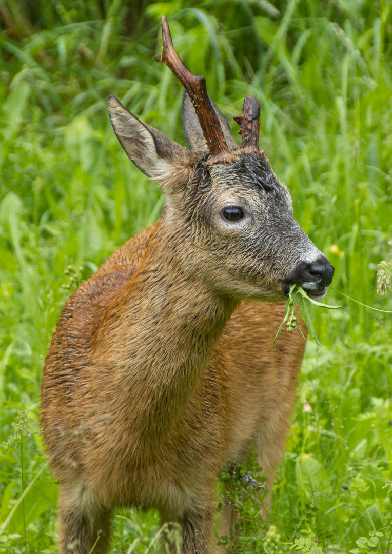
[{"label": "deer's far ear, partly hidden behind the tall antler", "polygon": [[[226,117],[216,106],[215,102],[211,100],[211,104],[213,106],[213,109],[216,111],[216,115],[218,116],[218,119],[221,123],[223,136],[225,137],[227,146],[230,148],[230,150],[236,150],[238,148],[238,145],[233,139],[230,125],[228,124]],[[205,150],[208,150],[206,139],[203,136],[200,124],[198,122],[195,108],[192,105],[191,99],[189,98],[186,90],[184,90],[184,95],[182,95],[182,122],[184,124],[186,140],[188,141],[188,144],[192,148],[192,150],[195,150],[196,152],[203,152]]]}]

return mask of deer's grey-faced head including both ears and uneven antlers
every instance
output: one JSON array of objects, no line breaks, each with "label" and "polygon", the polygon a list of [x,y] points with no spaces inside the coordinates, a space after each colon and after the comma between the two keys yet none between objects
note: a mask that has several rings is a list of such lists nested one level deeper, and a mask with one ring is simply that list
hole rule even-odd
[{"label": "deer's grey-faced head including both ears and uneven antlers", "polygon": [[258,147],[259,104],[247,96],[238,148],[230,126],[174,50],[162,18],[164,61],[185,86],[192,150],[143,124],[110,96],[110,121],[126,154],[166,195],[160,233],[188,278],[240,300],[281,299],[297,283],[321,297],[334,269],[293,218],[291,197]]}]

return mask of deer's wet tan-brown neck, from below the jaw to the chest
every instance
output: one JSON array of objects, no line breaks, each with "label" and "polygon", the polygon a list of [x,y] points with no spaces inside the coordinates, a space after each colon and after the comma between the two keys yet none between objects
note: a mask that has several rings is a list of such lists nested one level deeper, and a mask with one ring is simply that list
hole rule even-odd
[{"label": "deer's wet tan-brown neck, from below the jaw to the chest", "polygon": [[110,349],[105,365],[116,366],[118,406],[150,438],[165,437],[181,417],[238,305],[187,274],[179,248],[151,237],[138,272],[111,302],[115,321],[101,327]]}]

